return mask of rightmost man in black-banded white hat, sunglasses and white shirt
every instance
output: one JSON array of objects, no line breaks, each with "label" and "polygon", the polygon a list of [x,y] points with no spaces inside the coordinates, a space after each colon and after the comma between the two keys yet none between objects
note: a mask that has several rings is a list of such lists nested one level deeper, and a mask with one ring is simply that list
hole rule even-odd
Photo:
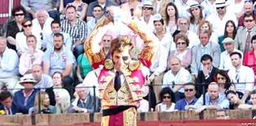
[{"label": "rightmost man in black-banded white hat, sunglasses and white shirt", "polygon": [[216,32],[217,36],[224,34],[225,24],[228,20],[233,20],[235,22],[235,26],[237,26],[237,18],[235,14],[227,11],[227,2],[225,0],[216,0],[215,2],[216,12],[211,14],[206,20],[209,20],[210,23],[213,24],[213,31]]}]

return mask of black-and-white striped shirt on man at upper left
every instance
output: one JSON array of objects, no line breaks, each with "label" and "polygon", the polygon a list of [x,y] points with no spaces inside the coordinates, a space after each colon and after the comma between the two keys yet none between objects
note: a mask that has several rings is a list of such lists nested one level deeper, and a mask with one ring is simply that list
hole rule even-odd
[{"label": "black-and-white striped shirt on man at upper left", "polygon": [[78,20],[74,26],[71,26],[69,20],[62,20],[62,32],[70,34],[71,42],[84,42],[87,37],[87,26],[85,21]]}]

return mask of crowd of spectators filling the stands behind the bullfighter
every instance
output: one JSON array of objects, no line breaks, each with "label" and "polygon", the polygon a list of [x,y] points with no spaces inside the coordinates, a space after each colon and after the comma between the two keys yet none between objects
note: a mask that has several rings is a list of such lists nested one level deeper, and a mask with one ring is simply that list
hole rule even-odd
[{"label": "crowd of spectators filling the stands behind the bullfighter", "polygon": [[[153,33],[158,45],[143,70],[147,88],[139,112],[256,109],[254,7],[251,0],[21,0],[0,36],[0,109],[100,112],[103,66],[90,65],[85,40],[110,57],[117,33],[129,35],[136,60],[144,45],[122,27],[128,21]],[[113,26],[94,35],[106,13]]]}]

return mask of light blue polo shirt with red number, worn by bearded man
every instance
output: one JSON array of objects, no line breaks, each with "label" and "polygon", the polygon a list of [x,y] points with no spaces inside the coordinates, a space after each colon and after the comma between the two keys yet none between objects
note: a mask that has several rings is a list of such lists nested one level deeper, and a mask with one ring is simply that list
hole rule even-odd
[{"label": "light blue polo shirt with red number, worn by bearded man", "polygon": [[50,70],[49,74],[52,76],[55,72],[64,72],[66,65],[73,64],[75,59],[71,50],[66,50],[62,47],[62,50],[59,54],[55,53],[55,50],[47,50],[44,54],[43,61],[49,63]]}]

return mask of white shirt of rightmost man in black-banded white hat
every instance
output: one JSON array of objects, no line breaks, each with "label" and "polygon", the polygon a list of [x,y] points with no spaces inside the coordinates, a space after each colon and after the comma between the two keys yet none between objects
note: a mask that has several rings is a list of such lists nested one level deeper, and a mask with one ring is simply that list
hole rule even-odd
[{"label": "white shirt of rightmost man in black-banded white hat", "polygon": [[210,15],[206,20],[213,24],[213,31],[215,31],[218,36],[224,35],[225,25],[228,20],[233,20],[235,26],[238,24],[235,14],[228,11],[225,13],[222,20],[220,20],[220,17],[216,13]]}]

